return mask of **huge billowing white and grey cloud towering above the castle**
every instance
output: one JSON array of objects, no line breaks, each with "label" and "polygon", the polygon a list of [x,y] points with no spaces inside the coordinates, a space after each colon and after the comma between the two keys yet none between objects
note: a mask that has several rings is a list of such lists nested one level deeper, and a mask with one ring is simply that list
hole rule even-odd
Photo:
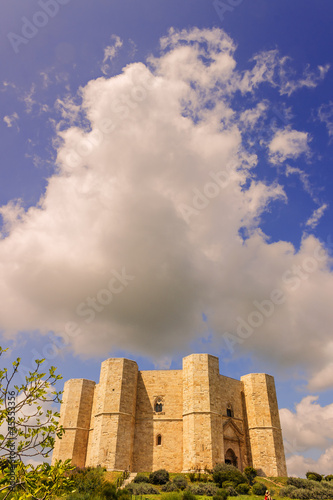
[{"label": "huge billowing white and grey cloud towering above the castle", "polygon": [[[287,198],[255,179],[242,141],[267,112],[255,89],[278,86],[283,59],[258,56],[240,74],[217,29],[171,31],[161,45],[90,81],[80,109],[58,103],[71,125],[59,122],[57,173],[38,206],[1,209],[3,331],[66,331],[85,356],[162,357],[203,334],[205,313],[219,346],[316,374],[330,359],[328,258],[313,236],[297,252],[262,233],[262,214]],[[250,98],[236,112],[237,90]]]}]

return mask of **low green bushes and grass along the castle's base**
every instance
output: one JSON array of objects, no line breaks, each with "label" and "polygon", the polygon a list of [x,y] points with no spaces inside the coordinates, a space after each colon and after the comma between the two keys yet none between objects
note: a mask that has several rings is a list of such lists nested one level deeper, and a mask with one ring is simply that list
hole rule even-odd
[{"label": "low green bushes and grass along the castle's base", "polygon": [[[139,473],[126,485],[128,473],[107,472],[102,467],[75,468],[66,473],[71,491],[62,491],[54,500],[263,500],[266,490],[273,500],[325,500],[333,499],[333,476],[308,473],[307,479],[294,477],[258,477],[255,469],[247,467],[241,473],[232,465],[217,464],[213,471],[172,474],[166,470]],[[73,490],[75,490],[73,492]],[[0,493],[3,500],[5,493]],[[29,497],[32,498],[32,497]],[[7,499],[25,500],[19,492]]]}]

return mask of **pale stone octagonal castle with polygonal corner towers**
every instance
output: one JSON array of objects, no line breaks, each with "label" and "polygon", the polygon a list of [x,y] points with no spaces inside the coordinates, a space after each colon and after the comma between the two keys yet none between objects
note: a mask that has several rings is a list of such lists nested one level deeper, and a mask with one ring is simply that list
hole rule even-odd
[{"label": "pale stone octagonal castle with polygonal corner towers", "polygon": [[65,383],[60,424],[52,463],[185,472],[226,462],[287,475],[274,378],[225,377],[209,354],[187,356],[182,370],[139,371],[135,361],[107,359],[99,384]]}]

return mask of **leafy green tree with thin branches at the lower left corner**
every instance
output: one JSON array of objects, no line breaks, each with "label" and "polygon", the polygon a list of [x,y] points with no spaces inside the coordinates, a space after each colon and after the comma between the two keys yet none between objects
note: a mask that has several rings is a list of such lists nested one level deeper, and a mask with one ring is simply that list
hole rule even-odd
[{"label": "leafy green tree with thin branches at the lower left corner", "polygon": [[[0,356],[7,350],[0,347]],[[62,492],[72,487],[66,475],[73,469],[70,460],[59,461],[54,466],[46,462],[37,467],[24,463],[29,457],[48,458],[55,436],[61,438],[64,433],[59,425],[59,413],[43,409],[43,405],[61,403],[63,392],[54,388],[62,379],[54,366],[48,375],[41,372],[44,361],[36,359],[35,369],[29,371],[25,382],[19,385],[14,382],[20,358],[12,363],[10,371],[7,368],[0,370],[0,427],[3,432],[0,434],[0,491],[8,490],[4,499],[15,491],[20,500],[46,500],[54,494],[65,494]]]}]

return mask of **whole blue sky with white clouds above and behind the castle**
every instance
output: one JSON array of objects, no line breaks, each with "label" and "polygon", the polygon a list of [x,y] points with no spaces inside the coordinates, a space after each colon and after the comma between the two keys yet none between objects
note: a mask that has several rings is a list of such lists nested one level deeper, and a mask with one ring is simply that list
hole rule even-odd
[{"label": "whole blue sky with white clouds above and behind the castle", "polygon": [[332,14],[3,7],[8,361],[97,381],[110,356],[172,369],[210,352],[225,375],[275,376],[290,474],[331,472]]}]

